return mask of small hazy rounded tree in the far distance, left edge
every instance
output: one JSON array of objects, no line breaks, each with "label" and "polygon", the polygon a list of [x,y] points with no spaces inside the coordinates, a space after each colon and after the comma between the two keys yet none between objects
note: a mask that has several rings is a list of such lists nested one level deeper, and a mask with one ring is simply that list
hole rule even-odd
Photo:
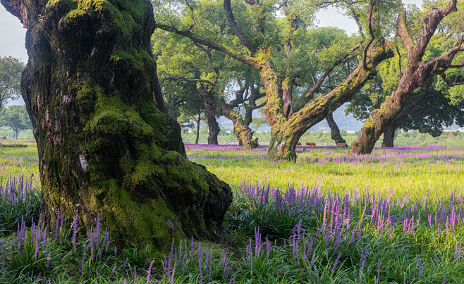
[{"label": "small hazy rounded tree in the far distance, left edge", "polygon": [[28,111],[25,106],[8,106],[1,113],[0,124],[8,126],[15,132],[15,140],[21,130],[32,129]]}]

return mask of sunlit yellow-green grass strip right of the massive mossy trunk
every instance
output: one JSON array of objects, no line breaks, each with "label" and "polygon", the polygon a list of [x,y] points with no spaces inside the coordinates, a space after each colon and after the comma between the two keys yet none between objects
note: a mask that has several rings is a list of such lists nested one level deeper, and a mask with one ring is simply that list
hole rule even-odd
[{"label": "sunlit yellow-green grass strip right of the massive mossy trunk", "polygon": [[[294,185],[319,185],[324,190],[345,192],[368,189],[380,194],[412,196],[427,195],[430,190],[442,195],[462,188],[464,168],[462,161],[435,161],[421,159],[392,159],[391,161],[313,162],[314,159],[330,157],[346,158],[346,149],[313,149],[299,152],[296,163],[282,161],[273,163],[262,158],[265,152],[220,152],[211,150],[188,151],[190,161],[202,163],[209,171],[226,183],[233,185],[267,181],[279,187]],[[372,154],[375,158],[384,150]],[[432,155],[453,154],[464,156],[463,149],[446,149],[427,152]],[[259,157],[255,158],[255,154]],[[233,157],[240,157],[234,159]],[[310,159],[310,161],[307,161]]]}]

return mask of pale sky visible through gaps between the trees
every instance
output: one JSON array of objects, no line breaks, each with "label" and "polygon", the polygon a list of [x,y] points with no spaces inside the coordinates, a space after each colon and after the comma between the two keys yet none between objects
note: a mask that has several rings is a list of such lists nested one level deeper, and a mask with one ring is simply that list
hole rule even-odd
[{"label": "pale sky visible through gaps between the trees", "polygon": [[[404,4],[422,5],[422,0],[403,0]],[[354,20],[343,16],[343,11],[329,8],[317,13],[319,27],[332,26],[346,30],[347,34],[357,32],[358,27]],[[27,63],[28,53],[25,49],[26,29],[20,21],[8,13],[4,6],[0,5],[0,56],[13,56]],[[13,101],[13,104],[23,104],[22,99]]]}]

